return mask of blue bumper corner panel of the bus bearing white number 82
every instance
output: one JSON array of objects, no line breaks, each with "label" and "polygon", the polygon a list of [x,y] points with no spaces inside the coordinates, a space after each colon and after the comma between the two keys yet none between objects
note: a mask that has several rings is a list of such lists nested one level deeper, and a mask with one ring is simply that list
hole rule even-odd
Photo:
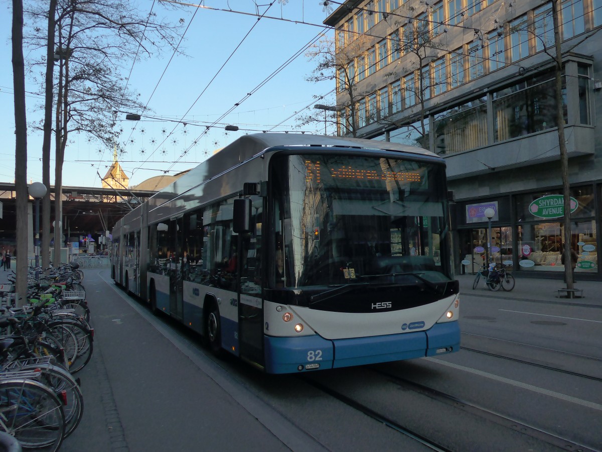
[{"label": "blue bumper corner panel of the bus bearing white number 82", "polygon": [[265,371],[270,374],[298,372],[299,366],[319,364],[318,369],[332,368],[332,341],[318,336],[264,336]]}]

